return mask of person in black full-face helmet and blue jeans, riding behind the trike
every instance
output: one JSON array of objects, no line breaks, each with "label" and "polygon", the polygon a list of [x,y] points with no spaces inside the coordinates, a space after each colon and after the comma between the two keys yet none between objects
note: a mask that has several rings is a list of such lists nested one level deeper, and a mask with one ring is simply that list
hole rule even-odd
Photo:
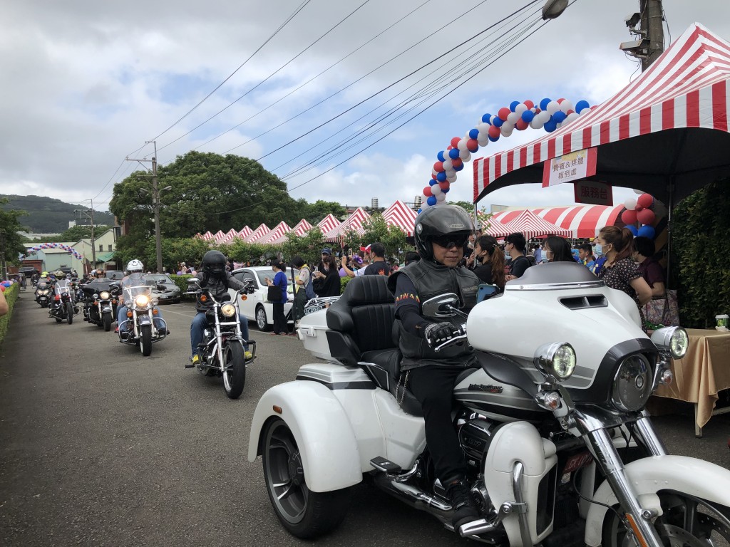
[{"label": "person in black full-face helmet and blue jeans, riding behind the trike", "polygon": [[[231,272],[226,271],[226,255],[220,251],[208,251],[203,255],[201,263],[201,271],[195,274],[201,288],[207,288],[213,295],[215,300],[220,300],[223,295],[228,294],[228,288],[233,290],[245,290],[247,285],[236,279]],[[205,317],[205,311],[212,306],[212,302],[201,302],[200,298],[196,300],[196,310],[198,313],[193,317],[190,325],[190,345],[191,345],[191,362],[185,364],[185,368],[196,366],[200,361],[198,354],[198,344],[203,341],[204,330],[208,326],[208,319]],[[246,360],[251,358],[248,351],[248,319],[239,315],[241,322],[241,335],[244,338],[243,349],[246,352]]]}]

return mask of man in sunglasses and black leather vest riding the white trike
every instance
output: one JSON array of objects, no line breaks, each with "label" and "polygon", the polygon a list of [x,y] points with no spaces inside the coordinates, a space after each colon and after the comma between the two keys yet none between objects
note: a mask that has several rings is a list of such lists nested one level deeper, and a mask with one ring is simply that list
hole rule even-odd
[{"label": "man in sunglasses and black leather vest riding the white trike", "polygon": [[388,288],[396,297],[401,373],[405,374],[404,384],[423,408],[426,443],[436,476],[453,507],[454,529],[480,518],[466,484],[466,460],[451,418],[456,377],[465,368],[476,366],[476,357],[466,341],[435,352],[434,346],[460,332],[461,320],[453,317],[439,322],[424,317],[420,304],[453,292],[464,311],[475,306],[480,280],[469,269],[458,268],[472,229],[469,214],[461,207],[429,207],[415,220],[420,260],[388,278]]}]

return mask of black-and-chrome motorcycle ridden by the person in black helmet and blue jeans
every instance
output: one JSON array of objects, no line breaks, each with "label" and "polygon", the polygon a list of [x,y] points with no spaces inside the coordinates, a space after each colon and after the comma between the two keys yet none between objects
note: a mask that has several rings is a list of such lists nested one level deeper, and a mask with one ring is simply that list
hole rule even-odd
[{"label": "black-and-chrome motorcycle ridden by the person in black helmet and blue jeans", "polygon": [[[196,368],[203,376],[223,376],[223,389],[231,399],[237,399],[242,394],[246,384],[246,366],[256,356],[256,343],[243,338],[239,322],[238,300],[245,300],[246,295],[255,290],[253,282],[249,282],[245,281],[250,288],[236,291],[235,300],[231,302],[228,293],[216,300],[207,288],[199,286],[197,279],[188,280],[188,292],[194,290],[202,302],[212,304],[205,312],[208,327],[203,331],[203,341],[198,344],[200,360]],[[244,344],[249,348],[248,359]]]}]

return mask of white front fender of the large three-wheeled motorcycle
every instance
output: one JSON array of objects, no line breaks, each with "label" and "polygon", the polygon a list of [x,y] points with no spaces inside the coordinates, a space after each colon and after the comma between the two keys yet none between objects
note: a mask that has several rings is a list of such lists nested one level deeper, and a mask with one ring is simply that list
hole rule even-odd
[{"label": "white front fender of the large three-wheeled motorcycle", "polygon": [[[730,471],[703,459],[685,456],[652,456],[626,465],[625,473],[637,495],[642,496],[643,508],[656,509],[661,515],[656,492],[675,490],[710,503],[730,507]],[[615,505],[615,494],[604,481],[593,501]],[[585,518],[585,543],[591,547],[601,544],[603,521],[607,508],[591,504]]]}]

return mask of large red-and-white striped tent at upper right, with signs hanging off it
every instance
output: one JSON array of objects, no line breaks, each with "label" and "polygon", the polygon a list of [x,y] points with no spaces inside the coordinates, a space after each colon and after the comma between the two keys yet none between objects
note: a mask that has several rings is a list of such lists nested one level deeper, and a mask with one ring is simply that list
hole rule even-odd
[{"label": "large red-and-white striped tent at upper right, with signs hanging off it", "polygon": [[545,160],[597,147],[597,180],[672,206],[730,176],[730,43],[694,23],[603,104],[529,144],[474,161],[474,201],[540,182]]}]

